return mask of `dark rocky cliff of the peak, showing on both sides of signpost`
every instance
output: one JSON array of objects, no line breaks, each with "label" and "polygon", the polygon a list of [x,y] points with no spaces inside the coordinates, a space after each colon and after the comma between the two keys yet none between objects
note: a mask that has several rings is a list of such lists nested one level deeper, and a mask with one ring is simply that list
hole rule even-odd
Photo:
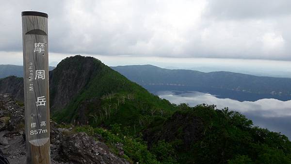
[{"label": "dark rocky cliff of the peak, showing on both sides of signpost", "polygon": [[[49,72],[50,110],[63,109],[103,67],[93,57],[77,55],[64,59]],[[10,76],[0,79],[0,93],[9,93],[23,102],[23,78]]]}]

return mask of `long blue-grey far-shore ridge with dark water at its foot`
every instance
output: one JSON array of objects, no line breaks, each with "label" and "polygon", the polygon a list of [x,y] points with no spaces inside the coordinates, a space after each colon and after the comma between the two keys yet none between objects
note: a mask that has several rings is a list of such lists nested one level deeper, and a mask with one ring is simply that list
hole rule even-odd
[{"label": "long blue-grey far-shore ridge with dark water at its foot", "polygon": [[199,91],[240,101],[256,101],[262,98],[291,99],[291,78],[260,77],[226,71],[205,73],[164,69],[152,65],[112,68],[152,93],[161,90]]}]

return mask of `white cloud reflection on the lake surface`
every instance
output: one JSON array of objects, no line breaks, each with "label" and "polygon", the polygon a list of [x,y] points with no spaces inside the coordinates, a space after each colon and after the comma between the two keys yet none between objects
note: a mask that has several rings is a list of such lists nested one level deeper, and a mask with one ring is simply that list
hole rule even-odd
[{"label": "white cloud reflection on the lake surface", "polygon": [[291,116],[291,100],[280,101],[272,98],[259,99],[257,101],[238,101],[229,98],[216,98],[210,94],[200,92],[182,93],[174,95],[172,92],[161,92],[159,97],[168,99],[172,103],[189,103],[191,106],[207,103],[215,104],[218,109],[228,107],[230,110],[241,113],[255,113],[263,117]]}]

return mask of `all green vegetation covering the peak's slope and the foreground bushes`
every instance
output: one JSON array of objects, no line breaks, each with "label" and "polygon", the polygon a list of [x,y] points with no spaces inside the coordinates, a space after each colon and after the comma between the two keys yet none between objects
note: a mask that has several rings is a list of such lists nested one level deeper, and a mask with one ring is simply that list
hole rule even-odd
[{"label": "all green vegetation covering the peak's slope and the foreground bushes", "polygon": [[[69,66],[82,73],[81,60],[77,56],[61,62],[53,82],[62,81],[62,70]],[[105,142],[130,163],[291,164],[291,142],[285,135],[254,127],[228,108],[171,104],[92,60],[90,76],[77,81],[87,80],[84,87],[64,109],[53,111],[53,118],[77,125],[75,131]],[[57,90],[50,93],[54,98]]]}]

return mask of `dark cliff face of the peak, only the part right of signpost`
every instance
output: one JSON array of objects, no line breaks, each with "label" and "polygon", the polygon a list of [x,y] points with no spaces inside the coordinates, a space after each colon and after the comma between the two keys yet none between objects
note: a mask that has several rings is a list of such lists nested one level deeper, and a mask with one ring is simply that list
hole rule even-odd
[{"label": "dark cliff face of the peak, only the part right of signpost", "polygon": [[63,60],[49,73],[51,110],[64,108],[102,69],[92,57],[74,56]]}]

